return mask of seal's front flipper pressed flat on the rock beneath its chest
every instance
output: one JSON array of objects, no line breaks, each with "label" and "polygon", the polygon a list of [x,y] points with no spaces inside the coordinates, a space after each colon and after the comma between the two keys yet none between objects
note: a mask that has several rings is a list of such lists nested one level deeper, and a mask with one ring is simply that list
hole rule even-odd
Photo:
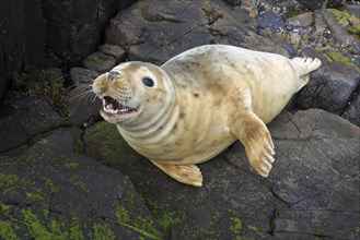
[{"label": "seal's front flipper pressed flat on the rock beneath its chest", "polygon": [[202,175],[196,165],[166,165],[151,160],[158,168],[175,180],[196,187],[202,185]]}]

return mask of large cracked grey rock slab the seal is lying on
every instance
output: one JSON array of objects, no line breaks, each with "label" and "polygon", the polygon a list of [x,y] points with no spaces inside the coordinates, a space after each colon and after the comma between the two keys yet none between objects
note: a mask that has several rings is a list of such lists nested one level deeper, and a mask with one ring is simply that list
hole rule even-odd
[{"label": "large cracked grey rock slab the seal is lying on", "polygon": [[89,156],[129,176],[172,239],[359,238],[360,129],[306,110],[280,115],[269,130],[277,154],[268,179],[254,173],[237,142],[199,166],[202,188],[164,175],[109,123],[85,129],[84,141]]}]

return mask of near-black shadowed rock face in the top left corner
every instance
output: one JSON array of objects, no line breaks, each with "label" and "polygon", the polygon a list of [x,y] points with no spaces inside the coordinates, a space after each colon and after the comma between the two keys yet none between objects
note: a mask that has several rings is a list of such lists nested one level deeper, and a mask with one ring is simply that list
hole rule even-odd
[{"label": "near-black shadowed rock face in the top left corner", "polygon": [[1,1],[0,101],[24,61],[39,68],[80,63],[96,49],[108,20],[135,1]]}]

